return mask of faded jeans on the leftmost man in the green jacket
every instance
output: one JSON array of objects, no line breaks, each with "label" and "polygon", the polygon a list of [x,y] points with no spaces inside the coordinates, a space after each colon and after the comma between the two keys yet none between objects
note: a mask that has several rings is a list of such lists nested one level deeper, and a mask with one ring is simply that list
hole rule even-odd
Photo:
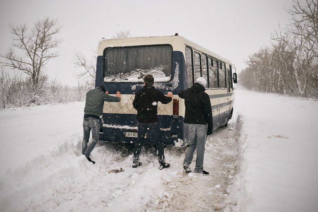
[{"label": "faded jeans on the leftmost man in the green jacket", "polygon": [[[90,142],[87,147],[91,130],[92,130],[92,142]],[[91,117],[84,118],[83,131],[84,131],[84,137],[83,137],[83,143],[82,143],[82,154],[85,155],[86,157],[89,157],[96,143],[99,140],[99,131],[100,131],[99,119],[91,118]]]}]

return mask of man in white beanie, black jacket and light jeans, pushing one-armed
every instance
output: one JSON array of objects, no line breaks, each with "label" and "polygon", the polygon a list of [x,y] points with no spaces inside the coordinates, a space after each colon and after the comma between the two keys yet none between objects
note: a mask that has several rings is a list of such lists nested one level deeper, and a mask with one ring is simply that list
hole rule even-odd
[{"label": "man in white beanie, black jacket and light jeans, pushing one-armed", "polygon": [[[209,172],[203,170],[203,161],[206,136],[212,134],[213,125],[210,97],[204,92],[205,84],[206,80],[199,77],[191,88],[180,91],[178,96],[184,99],[184,123],[187,123],[189,127],[190,140],[190,146],[183,160],[183,169],[186,173],[191,172],[190,164],[194,150],[197,149],[194,172],[209,175]],[[208,124],[208,130],[206,130],[206,124]]]}]

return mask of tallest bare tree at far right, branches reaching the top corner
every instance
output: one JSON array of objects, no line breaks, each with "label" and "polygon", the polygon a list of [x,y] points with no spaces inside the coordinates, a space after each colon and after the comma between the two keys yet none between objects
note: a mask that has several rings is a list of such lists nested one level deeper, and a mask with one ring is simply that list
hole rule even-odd
[{"label": "tallest bare tree at far right, branches reaching the top corner", "polygon": [[292,8],[286,11],[291,15],[290,23],[275,31],[272,39],[285,43],[286,51],[293,54],[293,78],[297,82],[297,96],[308,96],[313,88],[308,80],[315,81],[315,85],[318,83],[317,1],[306,0],[306,4],[302,6],[298,0],[294,0]]}]

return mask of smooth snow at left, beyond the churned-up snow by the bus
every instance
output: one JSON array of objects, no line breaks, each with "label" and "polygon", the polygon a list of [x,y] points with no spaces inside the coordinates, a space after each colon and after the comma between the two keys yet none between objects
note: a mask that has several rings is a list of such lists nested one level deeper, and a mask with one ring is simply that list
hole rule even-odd
[{"label": "smooth snow at left, beyond the churned-up snow by the bus", "polygon": [[83,131],[85,102],[0,110],[0,176]]}]

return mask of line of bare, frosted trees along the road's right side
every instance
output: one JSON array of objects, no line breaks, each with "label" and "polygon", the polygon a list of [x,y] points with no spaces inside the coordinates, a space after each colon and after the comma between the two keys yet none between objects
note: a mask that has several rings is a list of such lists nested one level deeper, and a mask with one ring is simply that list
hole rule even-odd
[{"label": "line of bare, frosted trees along the road's right side", "polygon": [[251,90],[318,98],[317,0],[293,1],[289,23],[271,34],[271,45],[250,55],[240,82]]}]

